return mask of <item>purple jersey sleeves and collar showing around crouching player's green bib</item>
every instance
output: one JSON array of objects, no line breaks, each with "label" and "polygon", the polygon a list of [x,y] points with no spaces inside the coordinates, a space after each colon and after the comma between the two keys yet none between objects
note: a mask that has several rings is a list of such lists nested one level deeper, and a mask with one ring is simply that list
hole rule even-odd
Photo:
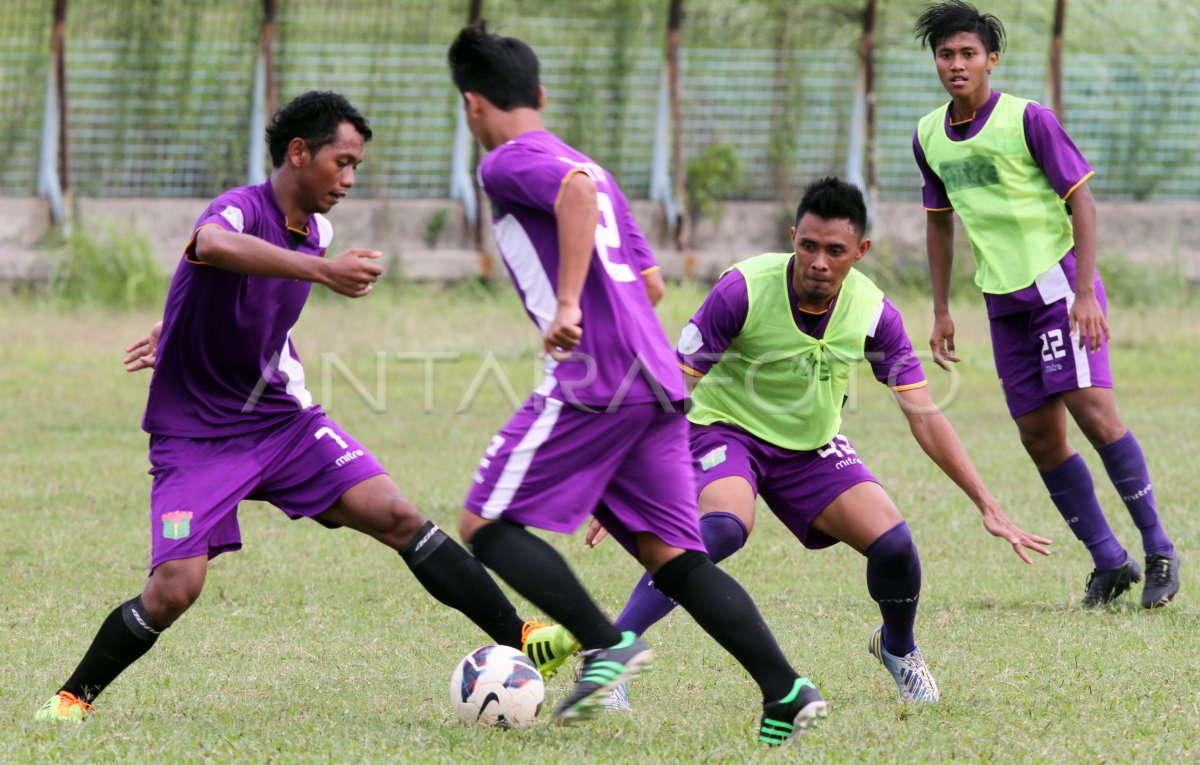
[{"label": "purple jersey sleeves and collar showing around crouching player's green bib", "polygon": [[[792,287],[792,267],[794,259],[787,266],[788,303],[792,306],[792,320],[796,326],[811,337],[824,337],[826,326],[833,314],[838,299],[822,314],[805,314],[796,308],[796,291]],[[746,294],[745,277],[733,269],[727,271],[704,303],[683,330],[677,349],[679,366],[692,375],[703,375],[712,369],[721,354],[730,347],[733,338],[742,332],[746,314],[750,311],[750,299]],[[875,379],[896,391],[905,391],[926,385],[925,372],[920,361],[913,354],[912,343],[904,329],[900,312],[887,297],[883,299],[880,313],[868,327],[864,355],[871,365]]]}]

